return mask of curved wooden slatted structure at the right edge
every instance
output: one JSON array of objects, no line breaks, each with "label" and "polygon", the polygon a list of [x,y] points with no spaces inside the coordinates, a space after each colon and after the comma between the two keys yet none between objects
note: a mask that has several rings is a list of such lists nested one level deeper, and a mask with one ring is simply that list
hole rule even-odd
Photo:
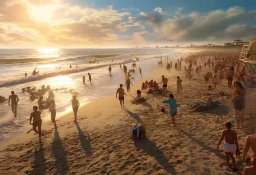
[{"label": "curved wooden slatted structure at the right edge", "polygon": [[238,58],[237,72],[240,70],[240,67],[247,68],[249,72],[252,72],[252,76],[254,76],[256,67],[256,38],[252,39],[249,44],[243,45]]}]

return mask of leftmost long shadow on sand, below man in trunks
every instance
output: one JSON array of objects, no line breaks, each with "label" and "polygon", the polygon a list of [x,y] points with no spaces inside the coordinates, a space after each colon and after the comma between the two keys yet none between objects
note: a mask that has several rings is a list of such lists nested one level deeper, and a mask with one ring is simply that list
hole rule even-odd
[{"label": "leftmost long shadow on sand, below man in trunks", "polygon": [[46,165],[45,165],[45,156],[43,153],[43,144],[40,141],[39,149],[35,149],[35,158],[34,158],[34,166],[33,166],[34,175],[45,175],[46,174]]}]

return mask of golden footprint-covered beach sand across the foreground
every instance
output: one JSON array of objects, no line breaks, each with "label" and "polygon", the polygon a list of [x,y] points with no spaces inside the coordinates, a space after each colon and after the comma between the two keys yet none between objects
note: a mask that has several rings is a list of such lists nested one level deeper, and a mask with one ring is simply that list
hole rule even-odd
[{"label": "golden footprint-covered beach sand across the foreground", "polygon": [[[2,142],[1,174],[241,174],[227,168],[222,144],[220,150],[216,149],[216,145],[224,123],[230,121],[234,126],[232,129],[238,134],[242,152],[245,137],[254,133],[256,101],[250,99],[256,96],[255,89],[247,90],[245,129],[236,129],[233,105],[230,103],[234,87],[229,90],[227,80],[210,92],[213,95],[206,95],[207,85],[202,76],[208,69],[202,68],[200,75],[189,81],[184,70],[176,72],[175,68],[171,68],[168,73],[166,63],[163,65],[154,68],[150,77],[143,77],[142,74],[139,83],[131,86],[131,96],[125,97],[124,109],[115,95],[108,96],[81,105],[77,123],[73,122],[72,111],[57,116],[58,129],[54,129],[51,121],[43,122],[43,144],[39,143],[38,135],[33,130]],[[142,93],[146,101],[132,104],[132,96],[136,96],[142,82],[151,79],[161,82],[162,74],[169,80],[168,94],[173,92],[174,96],[177,94],[176,77],[180,76],[183,80],[182,97],[177,98],[176,127],[171,126],[168,105],[162,103],[167,97],[162,93]],[[125,80],[120,83],[124,84]],[[124,90],[126,92],[126,87]],[[203,112],[185,112],[191,103],[201,100],[202,96],[216,96],[220,91],[227,94],[217,98],[223,105]],[[166,113],[161,112],[163,106]],[[128,127],[132,123],[145,125],[147,138],[139,140],[130,137]],[[243,171],[242,158],[236,158],[236,165]]]}]

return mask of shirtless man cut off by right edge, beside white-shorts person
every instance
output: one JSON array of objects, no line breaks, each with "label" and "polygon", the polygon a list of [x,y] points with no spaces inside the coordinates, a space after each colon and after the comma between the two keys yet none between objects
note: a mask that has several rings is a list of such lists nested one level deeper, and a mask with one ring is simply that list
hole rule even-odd
[{"label": "shirtless man cut off by right edge, beside white-shorts person", "polygon": [[[250,158],[256,158],[256,125],[254,126],[255,133],[245,138],[245,146],[243,149],[243,160],[245,161],[246,154],[251,148]],[[256,161],[256,160],[255,160]]]}]

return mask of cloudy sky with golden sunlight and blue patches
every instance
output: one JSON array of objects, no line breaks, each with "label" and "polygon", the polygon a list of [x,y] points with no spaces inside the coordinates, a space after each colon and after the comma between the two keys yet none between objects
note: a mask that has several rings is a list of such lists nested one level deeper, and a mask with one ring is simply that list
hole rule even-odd
[{"label": "cloudy sky with golden sunlight and blue patches", "polygon": [[224,45],[254,38],[253,0],[0,0],[0,48]]}]

